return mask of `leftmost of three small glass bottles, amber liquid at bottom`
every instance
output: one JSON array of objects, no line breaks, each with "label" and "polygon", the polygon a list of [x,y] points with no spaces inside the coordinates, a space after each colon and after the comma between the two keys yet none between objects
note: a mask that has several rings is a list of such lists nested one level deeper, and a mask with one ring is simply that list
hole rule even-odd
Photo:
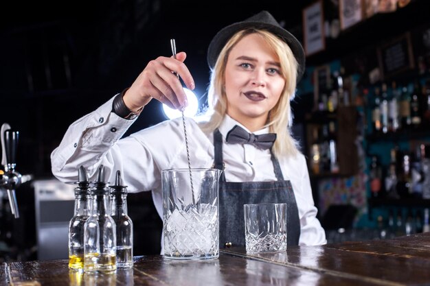
[{"label": "leftmost of three small glass bottles, amber liquid at bottom", "polygon": [[69,223],[69,269],[84,270],[84,224],[91,210],[91,188],[87,171],[78,169],[78,187],[75,188],[75,211]]}]

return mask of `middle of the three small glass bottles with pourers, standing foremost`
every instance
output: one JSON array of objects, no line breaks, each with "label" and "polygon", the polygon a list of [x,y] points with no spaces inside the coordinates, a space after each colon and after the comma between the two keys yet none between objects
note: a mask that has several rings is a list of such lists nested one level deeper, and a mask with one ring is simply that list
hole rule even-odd
[{"label": "middle of the three small glass bottles with pourers, standing foremost", "polygon": [[84,227],[84,271],[116,270],[116,227],[109,215],[109,187],[104,182],[104,166],[98,169],[92,189],[93,207]]}]

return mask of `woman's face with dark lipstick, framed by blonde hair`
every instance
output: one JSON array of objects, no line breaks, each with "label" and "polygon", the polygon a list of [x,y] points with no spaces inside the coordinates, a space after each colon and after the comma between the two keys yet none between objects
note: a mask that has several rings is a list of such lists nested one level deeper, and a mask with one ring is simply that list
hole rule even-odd
[{"label": "woman's face with dark lipstick, framed by blonde hair", "polygon": [[284,85],[280,60],[262,36],[249,34],[231,49],[225,67],[227,114],[250,131],[267,122]]}]

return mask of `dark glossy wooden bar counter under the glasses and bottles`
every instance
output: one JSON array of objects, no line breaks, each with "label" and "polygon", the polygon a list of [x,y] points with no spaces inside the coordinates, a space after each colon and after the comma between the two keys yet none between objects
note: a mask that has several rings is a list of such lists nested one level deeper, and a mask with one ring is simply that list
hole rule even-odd
[{"label": "dark glossy wooden bar counter under the glasses and bottles", "polygon": [[133,269],[114,274],[79,274],[67,263],[3,263],[0,285],[430,285],[430,233],[261,254],[228,248],[207,261],[135,257]]}]

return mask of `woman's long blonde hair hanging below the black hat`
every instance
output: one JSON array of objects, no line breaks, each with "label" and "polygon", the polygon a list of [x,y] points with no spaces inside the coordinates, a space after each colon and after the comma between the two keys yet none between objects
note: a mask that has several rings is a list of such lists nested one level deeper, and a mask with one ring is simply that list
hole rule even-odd
[{"label": "woman's long blonde hair hanging below the black hat", "polygon": [[290,47],[266,30],[245,29],[232,36],[223,49],[220,51],[218,59],[211,71],[210,86],[207,94],[207,102],[210,112],[209,121],[202,124],[205,132],[213,132],[220,126],[227,113],[227,97],[225,95],[225,67],[231,49],[245,36],[249,34],[259,34],[264,38],[270,47],[275,51],[280,59],[281,74],[285,80],[284,90],[278,103],[270,110],[266,126],[270,132],[277,134],[277,139],[273,145],[273,153],[280,158],[281,156],[294,156],[298,152],[298,143],[291,136],[291,125],[293,117],[291,114],[290,101],[293,99],[297,79],[297,60]]}]

